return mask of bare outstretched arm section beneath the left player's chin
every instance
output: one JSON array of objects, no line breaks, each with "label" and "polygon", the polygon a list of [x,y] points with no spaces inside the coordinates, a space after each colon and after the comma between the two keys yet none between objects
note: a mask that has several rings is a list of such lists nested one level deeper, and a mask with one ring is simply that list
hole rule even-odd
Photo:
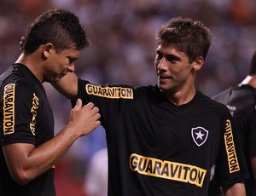
[{"label": "bare outstretched arm section beneath the left player's chin", "polygon": [[74,72],[68,72],[59,82],[51,84],[61,95],[66,96],[67,99],[76,100],[78,95],[78,81],[79,78]]}]

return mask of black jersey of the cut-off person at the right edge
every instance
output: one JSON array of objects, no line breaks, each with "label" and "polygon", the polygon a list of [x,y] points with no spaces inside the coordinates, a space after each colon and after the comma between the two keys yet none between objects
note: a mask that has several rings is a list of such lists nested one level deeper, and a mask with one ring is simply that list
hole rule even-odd
[{"label": "black jersey of the cut-off person at the right edge", "polygon": [[250,159],[256,157],[256,89],[250,85],[232,86],[212,97],[229,107],[247,159],[251,179],[245,181],[247,195],[256,195]]}]

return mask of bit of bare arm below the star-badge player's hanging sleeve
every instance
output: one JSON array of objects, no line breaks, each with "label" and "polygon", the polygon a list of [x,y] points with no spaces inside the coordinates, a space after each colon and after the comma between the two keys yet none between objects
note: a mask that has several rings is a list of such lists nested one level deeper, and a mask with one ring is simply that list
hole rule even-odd
[{"label": "bit of bare arm below the star-badge player's hanging sleeve", "polygon": [[231,187],[221,187],[224,196],[246,196],[246,190],[243,182],[236,183]]}]

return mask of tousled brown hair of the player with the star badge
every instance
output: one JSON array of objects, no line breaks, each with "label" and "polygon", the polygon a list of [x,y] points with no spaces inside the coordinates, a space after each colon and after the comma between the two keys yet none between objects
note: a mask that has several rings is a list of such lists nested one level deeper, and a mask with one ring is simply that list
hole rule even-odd
[{"label": "tousled brown hair of the player with the star badge", "polygon": [[169,20],[156,34],[160,45],[173,45],[189,56],[189,61],[197,57],[207,57],[212,42],[210,30],[201,21],[186,17]]}]

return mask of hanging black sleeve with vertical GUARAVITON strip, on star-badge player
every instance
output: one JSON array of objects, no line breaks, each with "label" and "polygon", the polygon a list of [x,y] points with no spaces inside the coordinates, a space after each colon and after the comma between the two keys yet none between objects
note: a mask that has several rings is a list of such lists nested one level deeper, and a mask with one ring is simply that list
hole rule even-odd
[{"label": "hanging black sleeve with vertical GUARAVITON strip, on star-badge player", "polygon": [[221,124],[221,138],[216,175],[224,187],[241,182],[248,177],[247,164],[230,112],[227,112]]}]

